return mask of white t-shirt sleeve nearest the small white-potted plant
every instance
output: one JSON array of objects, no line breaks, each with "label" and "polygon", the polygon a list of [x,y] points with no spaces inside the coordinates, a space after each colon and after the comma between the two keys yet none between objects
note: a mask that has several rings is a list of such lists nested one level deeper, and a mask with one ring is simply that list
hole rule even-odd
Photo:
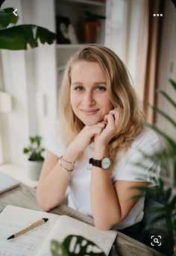
[{"label": "white t-shirt sleeve nearest the small white-potted plant", "polygon": [[44,138],[44,147],[46,150],[52,152],[57,157],[60,157],[65,152],[62,140],[57,132],[57,124],[51,125],[48,135]]}]

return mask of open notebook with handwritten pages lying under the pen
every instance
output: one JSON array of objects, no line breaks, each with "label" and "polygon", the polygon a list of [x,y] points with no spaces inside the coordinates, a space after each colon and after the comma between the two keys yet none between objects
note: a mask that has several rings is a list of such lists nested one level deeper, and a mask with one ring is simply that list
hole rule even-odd
[{"label": "open notebook with handwritten pages lying under the pen", "polygon": [[[7,240],[10,235],[42,218],[48,218],[48,222],[19,237]],[[95,227],[69,216],[12,205],[7,205],[0,213],[0,255],[3,256],[49,256],[51,240],[62,242],[69,234],[81,235],[91,240],[108,255],[117,232],[98,231]]]}]

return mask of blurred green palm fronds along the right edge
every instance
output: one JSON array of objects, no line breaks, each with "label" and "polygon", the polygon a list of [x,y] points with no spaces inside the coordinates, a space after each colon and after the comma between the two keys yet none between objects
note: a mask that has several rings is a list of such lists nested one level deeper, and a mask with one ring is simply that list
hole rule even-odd
[{"label": "blurred green palm fronds along the right edge", "polygon": [[[169,82],[176,92],[175,81],[169,79]],[[163,90],[158,90],[158,93],[160,93],[169,102],[169,104],[172,104],[172,106],[176,110],[175,96],[173,96],[172,99]],[[155,113],[159,113],[160,115],[162,115],[163,118],[166,119],[167,122],[172,124],[176,130],[175,116],[169,116],[168,113],[163,112],[157,107],[151,105],[150,107],[154,110]],[[173,188],[176,189],[176,141],[170,136],[167,131],[161,131],[160,128],[158,128],[156,125],[146,125],[156,131],[157,134],[160,134],[160,137],[162,137],[163,141],[166,143],[166,145],[155,154],[148,155],[143,153],[144,157],[160,161],[163,176],[159,179],[157,186],[154,190],[152,190],[150,187],[138,187],[137,189],[139,190],[139,195],[136,195],[133,198],[139,198],[142,193],[146,193],[146,196],[149,196],[151,199],[154,199],[155,201],[161,203],[160,207],[151,207],[151,209],[149,210],[152,218],[151,221],[145,226],[145,231],[152,228],[155,223],[160,221],[160,223],[162,223],[162,220],[164,220],[163,223],[165,223],[166,225],[161,225],[159,228],[161,231],[167,231],[168,233],[169,239],[168,241],[166,241],[166,243],[168,244],[168,251],[166,252],[166,255],[171,256],[176,251],[176,196],[175,193],[173,193]],[[145,167],[142,164],[142,161],[141,163],[137,163],[137,165]],[[155,170],[151,171],[154,172]],[[168,187],[164,182],[164,177],[172,177],[172,172],[174,177],[174,180],[172,181],[173,187]]]}]

